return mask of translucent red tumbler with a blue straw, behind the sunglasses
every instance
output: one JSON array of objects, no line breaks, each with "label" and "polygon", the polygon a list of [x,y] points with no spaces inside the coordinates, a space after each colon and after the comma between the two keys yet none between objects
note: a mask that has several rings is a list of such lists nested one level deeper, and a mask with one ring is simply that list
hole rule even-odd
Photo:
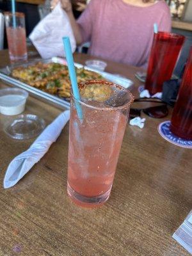
[{"label": "translucent red tumbler with a blue straw, behind the sunglasses", "polygon": [[154,34],[145,82],[145,89],[150,94],[162,92],[164,81],[172,77],[184,40],[184,36],[173,33],[158,32]]}]

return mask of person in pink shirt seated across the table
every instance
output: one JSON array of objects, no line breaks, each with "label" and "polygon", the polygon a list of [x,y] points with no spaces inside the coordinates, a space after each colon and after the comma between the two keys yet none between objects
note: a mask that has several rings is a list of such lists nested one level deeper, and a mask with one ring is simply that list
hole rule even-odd
[{"label": "person in pink shirt seated across the table", "polygon": [[[52,4],[59,0],[52,0]],[[77,44],[90,42],[88,53],[147,68],[154,36],[171,30],[171,16],[164,0],[91,0],[78,20],[74,19],[69,0],[60,0],[68,13]]]}]

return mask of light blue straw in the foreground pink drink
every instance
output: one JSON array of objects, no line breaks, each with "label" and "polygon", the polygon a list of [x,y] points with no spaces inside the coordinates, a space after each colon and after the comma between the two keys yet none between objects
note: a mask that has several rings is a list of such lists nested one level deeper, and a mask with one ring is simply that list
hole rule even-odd
[{"label": "light blue straw in the foreground pink drink", "polygon": [[[67,59],[70,81],[72,84],[72,91],[73,91],[74,97],[77,100],[81,100],[81,97],[79,94],[79,88],[78,88],[78,84],[77,84],[77,76],[76,76],[76,68],[74,66],[74,58],[72,55],[72,49],[71,49],[70,40],[69,40],[68,36],[63,37],[63,44],[64,44],[64,48],[65,48],[65,55],[66,55],[66,59]],[[76,109],[77,109],[77,115],[79,116],[79,119],[83,119],[83,113],[82,113],[81,106],[79,105],[79,102],[76,102]]]}]

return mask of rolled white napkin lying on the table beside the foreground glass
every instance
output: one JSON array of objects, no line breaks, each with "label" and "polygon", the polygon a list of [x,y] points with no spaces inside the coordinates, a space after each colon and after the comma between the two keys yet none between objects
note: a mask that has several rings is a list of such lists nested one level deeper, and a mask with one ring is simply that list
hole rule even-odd
[{"label": "rolled white napkin lying on the table beside the foreground glass", "polygon": [[45,130],[36,138],[31,147],[19,156],[15,157],[9,164],[4,176],[4,188],[10,188],[29,172],[29,170],[44,156],[51,144],[58,136],[69,120],[69,110],[61,113]]}]

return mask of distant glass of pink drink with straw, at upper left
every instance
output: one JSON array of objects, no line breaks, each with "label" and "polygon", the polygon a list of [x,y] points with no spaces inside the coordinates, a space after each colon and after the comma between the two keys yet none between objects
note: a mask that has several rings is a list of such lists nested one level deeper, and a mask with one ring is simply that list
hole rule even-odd
[{"label": "distant glass of pink drink with straw, at upper left", "polygon": [[11,61],[25,61],[28,58],[24,13],[5,12],[6,36]]}]

